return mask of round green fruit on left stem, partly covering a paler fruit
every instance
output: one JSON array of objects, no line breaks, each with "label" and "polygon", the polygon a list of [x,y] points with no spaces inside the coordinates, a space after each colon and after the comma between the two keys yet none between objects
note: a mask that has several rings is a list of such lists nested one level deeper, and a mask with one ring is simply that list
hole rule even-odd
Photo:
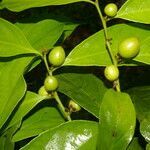
[{"label": "round green fruit on left stem, partly covering a paler fruit", "polygon": [[46,77],[44,81],[44,87],[46,91],[55,91],[58,88],[58,81],[54,76]]}]

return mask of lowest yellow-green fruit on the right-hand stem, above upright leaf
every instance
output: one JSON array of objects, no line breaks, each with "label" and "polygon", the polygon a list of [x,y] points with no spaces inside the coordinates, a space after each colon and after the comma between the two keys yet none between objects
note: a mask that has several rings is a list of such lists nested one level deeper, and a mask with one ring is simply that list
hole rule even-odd
[{"label": "lowest yellow-green fruit on the right-hand stem, above upright leaf", "polygon": [[105,68],[104,74],[106,79],[108,79],[109,81],[115,81],[119,77],[119,70],[116,66],[110,65]]}]

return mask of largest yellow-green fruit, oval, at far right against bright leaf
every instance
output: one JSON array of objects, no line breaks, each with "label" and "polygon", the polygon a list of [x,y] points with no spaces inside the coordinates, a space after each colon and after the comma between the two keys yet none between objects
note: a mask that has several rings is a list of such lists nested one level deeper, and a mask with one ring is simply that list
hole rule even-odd
[{"label": "largest yellow-green fruit, oval, at far right against bright leaf", "polygon": [[140,42],[136,37],[130,37],[119,44],[118,53],[123,58],[133,58],[140,51]]}]

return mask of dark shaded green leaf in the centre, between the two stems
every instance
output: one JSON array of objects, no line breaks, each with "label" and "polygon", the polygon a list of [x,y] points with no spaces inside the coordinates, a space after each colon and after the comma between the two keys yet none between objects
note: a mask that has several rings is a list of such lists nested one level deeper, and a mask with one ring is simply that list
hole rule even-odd
[{"label": "dark shaded green leaf in the centre, between the two stems", "polygon": [[92,74],[62,73],[57,76],[59,91],[66,94],[84,109],[99,117],[99,107],[106,91],[103,82]]}]

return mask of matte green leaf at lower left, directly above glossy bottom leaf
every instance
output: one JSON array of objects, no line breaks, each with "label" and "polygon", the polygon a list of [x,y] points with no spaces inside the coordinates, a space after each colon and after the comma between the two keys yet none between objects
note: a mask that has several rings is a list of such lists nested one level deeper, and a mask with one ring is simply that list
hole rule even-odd
[{"label": "matte green leaf at lower left, directly above glossy bottom leaf", "polygon": [[42,108],[23,121],[21,128],[13,136],[13,141],[36,136],[62,123],[64,119],[56,108]]}]

